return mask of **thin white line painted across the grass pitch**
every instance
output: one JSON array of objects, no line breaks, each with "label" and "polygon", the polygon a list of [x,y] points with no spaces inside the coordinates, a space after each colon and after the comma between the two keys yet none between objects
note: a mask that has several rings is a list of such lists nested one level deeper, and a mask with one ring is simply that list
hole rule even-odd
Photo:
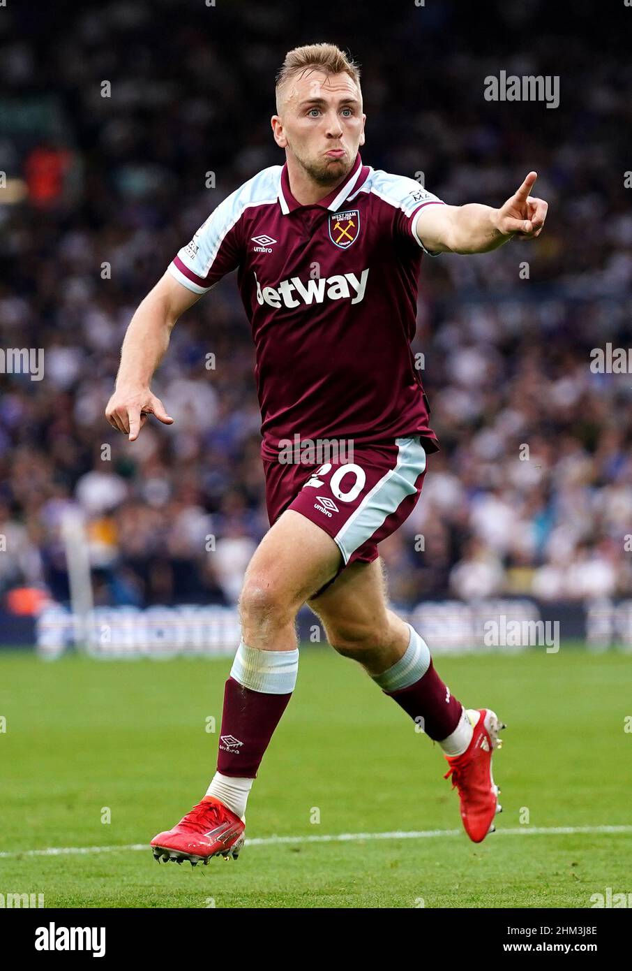
[{"label": "thin white line painted across the grass pitch", "polygon": [[[518,826],[497,829],[499,836],[565,836],[576,833],[632,833],[630,826]],[[324,836],[260,836],[246,840],[246,847],[280,846],[285,843],[351,843],[362,840],[421,840],[436,836],[462,836],[462,829],[402,829],[386,833],[337,833]],[[0,853],[0,859],[16,856],[61,856],[66,854],[114,853],[148,850],[148,843],[130,843],[114,847],[48,847],[47,850],[21,850]]]}]

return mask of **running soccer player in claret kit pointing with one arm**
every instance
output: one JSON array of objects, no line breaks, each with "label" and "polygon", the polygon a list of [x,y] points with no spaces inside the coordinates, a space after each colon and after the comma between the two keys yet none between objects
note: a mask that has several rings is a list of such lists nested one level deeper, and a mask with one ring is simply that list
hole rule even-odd
[{"label": "running soccer player in claret kit pointing with one arm", "polygon": [[[490,709],[461,705],[424,639],[389,609],[377,544],[409,516],[438,448],[410,348],[422,254],[534,239],[547,203],[529,194],[530,172],[500,209],[446,205],[413,179],[363,163],[364,119],[359,70],[345,53],[330,44],[291,50],[271,118],[285,164],[211,213],[123,342],[106,416],[133,442],[149,415],[173,421],[149,385],[175,321],[237,270],[256,347],[270,522],[241,590],[217,771],[202,801],[151,841],[157,859],[196,865],[243,846],[248,793],[296,684],[295,619],[305,603],[332,648],[439,744],[474,842],[500,811],[491,754],[504,726]],[[316,447],[348,443],[351,461],[282,460],[295,436]]]}]

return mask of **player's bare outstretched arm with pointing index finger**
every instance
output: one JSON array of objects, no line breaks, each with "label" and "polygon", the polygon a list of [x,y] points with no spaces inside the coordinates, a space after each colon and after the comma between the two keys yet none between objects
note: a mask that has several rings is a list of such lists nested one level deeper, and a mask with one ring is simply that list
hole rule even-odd
[{"label": "player's bare outstretched arm with pointing index finger", "polygon": [[514,195],[492,209],[477,202],[465,206],[425,206],[415,232],[429,252],[489,252],[518,236],[536,239],[547,218],[548,203],[529,192],[537,179],[529,172]]}]

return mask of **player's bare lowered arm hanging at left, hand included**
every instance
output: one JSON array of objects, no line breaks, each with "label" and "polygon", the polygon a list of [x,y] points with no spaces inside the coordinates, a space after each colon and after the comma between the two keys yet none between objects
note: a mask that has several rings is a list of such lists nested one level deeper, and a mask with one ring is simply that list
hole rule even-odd
[{"label": "player's bare lowered arm hanging at left, hand included", "polygon": [[174,421],[160,398],[152,394],[149,384],[167,352],[175,321],[201,296],[167,272],[147,293],[130,321],[121,348],[116,387],[106,408],[112,427],[129,435],[130,442],[139,437],[148,415],[155,415],[164,424]]}]

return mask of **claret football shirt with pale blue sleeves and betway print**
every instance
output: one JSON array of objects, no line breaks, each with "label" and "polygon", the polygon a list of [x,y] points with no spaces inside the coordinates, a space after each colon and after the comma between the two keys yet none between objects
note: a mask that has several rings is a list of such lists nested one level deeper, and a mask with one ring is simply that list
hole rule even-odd
[{"label": "claret football shirt with pale blue sleeves and betway print", "polygon": [[169,269],[205,293],[237,269],[252,327],[262,453],[282,440],[355,445],[420,435],[438,448],[410,348],[424,247],[416,222],[443,205],[413,179],[360,155],[343,184],[301,206],[287,166],[229,195]]}]

